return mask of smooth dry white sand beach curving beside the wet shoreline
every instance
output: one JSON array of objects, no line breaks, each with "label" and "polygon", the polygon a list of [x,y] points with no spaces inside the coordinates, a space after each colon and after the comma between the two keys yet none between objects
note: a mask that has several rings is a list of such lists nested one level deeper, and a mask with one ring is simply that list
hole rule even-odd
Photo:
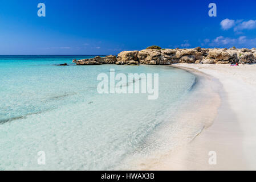
[{"label": "smooth dry white sand beach curving beside the wet shoreline", "polygon": [[[174,64],[176,68],[201,72],[217,78],[221,105],[212,126],[189,144],[169,154],[144,161],[145,170],[255,170],[256,169],[256,65]],[[207,91],[206,91],[207,92]],[[209,105],[206,107],[214,107]],[[195,110],[197,118],[205,109]],[[206,109],[207,112],[207,109]],[[214,113],[214,110],[213,110]],[[207,115],[207,114],[206,114]],[[186,116],[184,116],[186,117]],[[212,118],[212,114],[209,114]],[[208,117],[205,117],[208,119]],[[209,164],[209,151],[216,164]]]}]

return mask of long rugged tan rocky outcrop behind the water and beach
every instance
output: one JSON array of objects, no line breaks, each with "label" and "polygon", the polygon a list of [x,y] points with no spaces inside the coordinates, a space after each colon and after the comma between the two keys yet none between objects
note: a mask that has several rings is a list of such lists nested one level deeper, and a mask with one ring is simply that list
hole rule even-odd
[{"label": "long rugged tan rocky outcrop behind the water and beach", "polygon": [[256,63],[256,49],[200,48],[193,49],[144,49],[123,51],[116,56],[96,56],[92,59],[78,60],[78,65],[88,64],[245,64]]}]

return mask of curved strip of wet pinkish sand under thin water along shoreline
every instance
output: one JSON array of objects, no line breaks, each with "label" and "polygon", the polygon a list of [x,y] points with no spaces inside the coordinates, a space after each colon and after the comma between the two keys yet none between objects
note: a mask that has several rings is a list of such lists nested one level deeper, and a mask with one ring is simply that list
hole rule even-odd
[{"label": "curved strip of wet pinkish sand under thin water along shoreline", "polygon": [[[186,72],[190,70],[182,68]],[[212,76],[194,71],[196,81],[190,88],[188,96],[181,98],[180,104],[175,108],[175,114],[166,118],[166,122],[148,138],[155,143],[149,154],[133,156],[129,163],[129,170],[175,170],[183,162],[173,158],[205,129],[212,126],[221,105],[218,90],[222,88],[220,82]],[[173,108],[170,108],[173,109]],[[157,138],[157,139],[156,139]],[[161,143],[159,143],[161,142]],[[161,147],[162,146],[162,147]],[[169,161],[168,161],[168,160]],[[181,160],[181,159],[178,159]],[[183,159],[182,159],[183,160]],[[127,168],[124,168],[127,169]]]}]

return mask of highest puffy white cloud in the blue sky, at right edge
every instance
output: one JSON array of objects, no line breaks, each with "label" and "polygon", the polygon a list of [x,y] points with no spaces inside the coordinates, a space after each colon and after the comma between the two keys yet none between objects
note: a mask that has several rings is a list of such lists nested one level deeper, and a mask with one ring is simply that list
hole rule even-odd
[{"label": "highest puffy white cloud in the blue sky, at right edge", "polygon": [[241,19],[239,20],[233,20],[233,19],[224,19],[221,21],[221,28],[223,30],[229,30],[230,28],[234,28],[235,32],[239,32],[241,34],[242,30],[252,30],[256,28],[256,20],[248,20],[248,21],[243,21]]}]

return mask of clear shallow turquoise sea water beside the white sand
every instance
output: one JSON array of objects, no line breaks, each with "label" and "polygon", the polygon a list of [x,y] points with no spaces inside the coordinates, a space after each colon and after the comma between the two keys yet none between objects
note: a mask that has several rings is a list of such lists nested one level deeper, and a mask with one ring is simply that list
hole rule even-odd
[{"label": "clear shallow turquoise sea water beside the white sand", "polygon": [[[94,56],[0,56],[0,169],[114,169],[147,151],[147,138],[175,114],[195,81],[160,65],[72,64],[88,57]],[[62,63],[69,66],[56,66]],[[111,68],[159,73],[159,98],[97,93],[97,75]],[[45,165],[38,164],[39,151]]]}]

